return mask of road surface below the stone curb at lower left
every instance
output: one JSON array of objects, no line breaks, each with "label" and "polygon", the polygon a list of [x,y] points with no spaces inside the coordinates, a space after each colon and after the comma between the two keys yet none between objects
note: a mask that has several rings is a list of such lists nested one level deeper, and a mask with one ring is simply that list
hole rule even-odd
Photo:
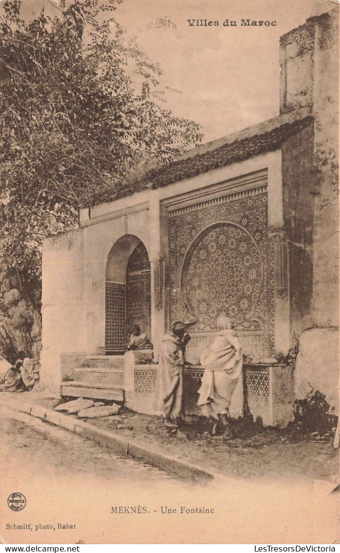
[{"label": "road surface below the stone curb at lower left", "polygon": [[166,481],[179,486],[178,478],[158,468],[6,407],[0,409],[0,447],[0,474],[10,467],[13,474],[24,471],[26,476],[41,471],[51,478],[67,473],[72,478],[81,475],[110,482],[124,481],[129,474],[129,480],[139,484]]}]

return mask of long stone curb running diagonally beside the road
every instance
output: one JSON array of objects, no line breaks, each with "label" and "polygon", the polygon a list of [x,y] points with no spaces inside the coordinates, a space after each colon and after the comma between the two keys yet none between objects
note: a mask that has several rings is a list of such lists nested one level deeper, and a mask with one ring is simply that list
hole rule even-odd
[{"label": "long stone curb running diagonally beside the road", "polygon": [[112,448],[114,451],[129,455],[136,459],[146,461],[157,468],[161,468],[170,474],[176,474],[180,477],[193,478],[209,481],[214,479],[214,473],[206,471],[204,468],[192,465],[185,461],[180,461],[176,457],[164,455],[152,447],[145,447],[129,439],[97,428],[88,422],[83,422],[69,415],[63,415],[59,411],[52,411],[41,405],[31,405],[29,403],[17,403],[16,401],[1,401],[0,405],[6,406],[15,411],[27,413],[38,419],[51,422],[56,426],[61,426],[66,430],[75,432],[83,437],[93,440],[100,445]]}]

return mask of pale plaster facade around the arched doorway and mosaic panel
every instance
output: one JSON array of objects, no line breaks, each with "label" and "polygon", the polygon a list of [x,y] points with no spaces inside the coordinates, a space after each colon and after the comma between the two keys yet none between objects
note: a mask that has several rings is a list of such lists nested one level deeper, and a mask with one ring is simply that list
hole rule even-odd
[{"label": "pale plaster facade around the arched doorway and mosaic panel", "polygon": [[[163,202],[172,203],[188,194],[190,197],[209,194],[209,187],[222,184],[223,194],[235,191],[232,179],[268,170],[268,226],[277,229],[283,225],[281,152],[269,152],[253,156],[219,169],[210,170],[193,178],[183,179],[155,190],[145,190],[115,202],[100,204],[91,210],[82,210],[80,231],[71,233],[71,238],[55,238],[44,247],[44,360],[46,370],[53,377],[54,385],[60,383],[60,353],[82,351],[94,353],[105,345],[105,278],[111,248],[123,236],[132,235],[145,245],[151,262],[162,258],[167,268],[167,224],[164,220]],[[242,186],[242,185],[240,185]],[[201,192],[200,192],[201,191]],[[182,200],[180,200],[182,201]],[[197,197],[194,200],[199,201]],[[66,242],[65,242],[66,241]],[[70,243],[68,243],[68,242]],[[72,242],[72,244],[71,244]],[[51,281],[50,259],[63,259],[63,269],[54,283]],[[130,252],[131,253],[131,252]],[[129,254],[129,252],[126,252]],[[124,252],[122,252],[124,257]],[[127,263],[129,255],[126,255]],[[72,259],[72,263],[71,263]],[[116,281],[125,281],[125,269],[114,272]],[[167,286],[166,274],[164,284]],[[54,286],[54,290],[53,290]],[[155,357],[160,349],[164,330],[167,327],[167,290],[161,309],[153,301],[153,274],[151,274],[151,341]],[[49,307],[59,303],[61,307]],[[75,305],[76,304],[76,305]],[[277,351],[288,350],[289,317],[287,306],[281,301],[275,304],[275,339]],[[72,314],[70,315],[70,312]],[[55,337],[52,329],[57,327]],[[52,354],[53,353],[53,354]],[[51,356],[52,362],[48,357]],[[57,368],[56,368],[57,367]]]}]

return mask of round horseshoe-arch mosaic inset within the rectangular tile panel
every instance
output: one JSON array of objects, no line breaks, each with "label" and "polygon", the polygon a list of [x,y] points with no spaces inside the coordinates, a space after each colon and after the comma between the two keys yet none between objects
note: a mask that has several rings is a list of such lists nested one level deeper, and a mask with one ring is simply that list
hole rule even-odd
[{"label": "round horseshoe-arch mosaic inset within the rectangular tile panel", "polygon": [[181,273],[189,320],[200,320],[209,330],[215,330],[219,315],[236,325],[257,322],[252,315],[263,286],[263,260],[246,228],[231,221],[206,227],[190,244]]}]

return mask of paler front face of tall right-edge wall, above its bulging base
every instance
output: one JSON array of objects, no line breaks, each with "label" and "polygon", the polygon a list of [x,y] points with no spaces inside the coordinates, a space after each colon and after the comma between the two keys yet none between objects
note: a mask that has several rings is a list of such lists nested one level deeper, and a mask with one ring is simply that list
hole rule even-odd
[{"label": "paler front face of tall right-edge wall, above its bulging base", "polygon": [[338,10],[316,20],[314,123],[314,292],[315,326],[339,321],[339,21]]}]

